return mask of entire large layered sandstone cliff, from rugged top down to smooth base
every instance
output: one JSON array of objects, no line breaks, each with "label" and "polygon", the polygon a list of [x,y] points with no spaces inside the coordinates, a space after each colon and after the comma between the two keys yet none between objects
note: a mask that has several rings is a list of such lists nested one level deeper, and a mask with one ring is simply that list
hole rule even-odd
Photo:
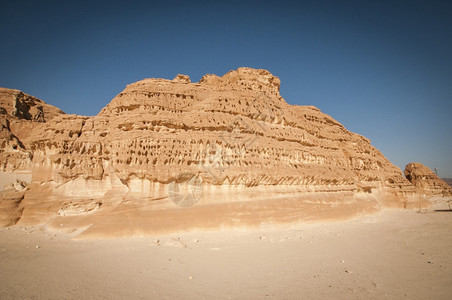
[{"label": "entire large layered sandstone cliff, from rugged top down to smooth base", "polygon": [[289,105],[279,88],[278,77],[251,68],[197,83],[144,79],[93,117],[2,89],[2,170],[32,173],[18,222],[133,234],[418,201],[368,139],[315,107]]}]

